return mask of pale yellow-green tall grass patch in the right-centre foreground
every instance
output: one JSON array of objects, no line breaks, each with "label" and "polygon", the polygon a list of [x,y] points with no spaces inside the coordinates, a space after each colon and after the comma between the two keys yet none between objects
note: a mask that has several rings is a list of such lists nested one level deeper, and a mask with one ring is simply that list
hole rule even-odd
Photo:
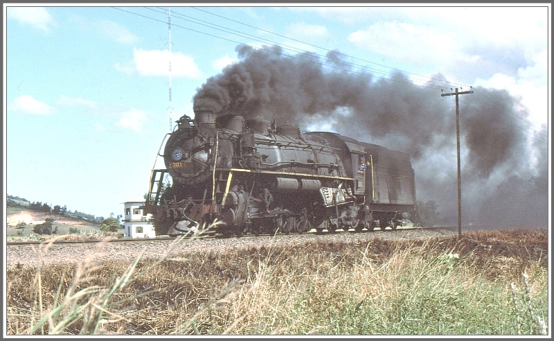
[{"label": "pale yellow-green tall grass patch in the right-centre foreground", "polygon": [[[369,245],[368,245],[369,246]],[[237,318],[236,334],[501,335],[506,323],[505,286],[483,278],[472,262],[430,245],[402,245],[378,264],[368,249],[352,255],[260,261],[238,299],[222,312]],[[306,262],[306,263],[302,263]],[[349,264],[350,263],[350,264]],[[232,312],[232,314],[230,313]],[[229,333],[214,326],[211,333]],[[529,331],[533,333],[533,331]]]}]

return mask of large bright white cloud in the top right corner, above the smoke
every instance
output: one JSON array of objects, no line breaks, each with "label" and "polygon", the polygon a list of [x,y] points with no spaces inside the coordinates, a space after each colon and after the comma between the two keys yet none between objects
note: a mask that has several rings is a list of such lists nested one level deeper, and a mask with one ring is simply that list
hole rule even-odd
[{"label": "large bright white cloud in the top right corner, above the smoke", "polygon": [[[522,76],[522,68],[533,65],[535,55],[548,49],[548,6],[287,9],[365,25],[352,30],[348,38],[370,51],[370,60],[406,70],[417,68],[420,74],[440,70],[451,81],[465,85],[475,85],[477,77],[486,79],[494,73]],[[346,29],[349,27],[353,26]]]}]

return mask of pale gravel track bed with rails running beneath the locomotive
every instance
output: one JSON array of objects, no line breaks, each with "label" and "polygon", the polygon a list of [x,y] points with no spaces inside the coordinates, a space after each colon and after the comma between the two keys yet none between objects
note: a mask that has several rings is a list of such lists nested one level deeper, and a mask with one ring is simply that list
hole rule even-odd
[{"label": "pale gravel track bed with rails running beneath the locomotive", "polygon": [[456,236],[453,230],[433,228],[376,229],[357,232],[315,230],[304,234],[276,234],[275,236],[237,236],[220,238],[123,238],[94,241],[57,241],[57,242],[17,242],[6,245],[6,265],[21,267],[70,263],[101,263],[103,261],[132,262],[141,259],[161,259],[176,256],[181,259],[186,254],[211,254],[233,250],[251,250],[260,247],[287,247],[306,243],[369,243],[374,238],[402,240],[412,238],[449,238]]}]

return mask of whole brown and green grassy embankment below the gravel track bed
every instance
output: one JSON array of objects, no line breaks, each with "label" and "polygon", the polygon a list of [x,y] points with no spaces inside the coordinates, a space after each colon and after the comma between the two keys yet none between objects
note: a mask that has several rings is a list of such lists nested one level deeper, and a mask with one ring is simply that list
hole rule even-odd
[{"label": "whole brown and green grassy embankment below the gravel track bed", "polygon": [[6,284],[8,335],[542,334],[548,232],[168,250],[160,261],[8,268]]}]

